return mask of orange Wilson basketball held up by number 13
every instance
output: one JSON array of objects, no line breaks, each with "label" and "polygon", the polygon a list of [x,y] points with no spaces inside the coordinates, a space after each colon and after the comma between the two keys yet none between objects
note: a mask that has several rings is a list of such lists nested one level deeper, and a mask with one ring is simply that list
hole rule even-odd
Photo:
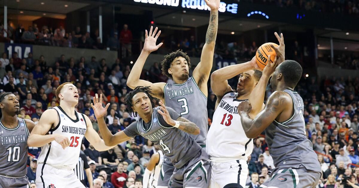
[{"label": "orange Wilson basketball held up by number 13", "polygon": [[264,67],[266,67],[266,65],[268,63],[269,55],[271,56],[270,57],[271,62],[273,62],[275,59],[276,53],[275,53],[274,49],[272,47],[270,47],[269,44],[272,44],[273,46],[278,47],[278,44],[276,44],[276,43],[271,43],[271,42],[264,43],[257,49],[257,52],[256,52],[256,62],[261,69],[264,69]]}]

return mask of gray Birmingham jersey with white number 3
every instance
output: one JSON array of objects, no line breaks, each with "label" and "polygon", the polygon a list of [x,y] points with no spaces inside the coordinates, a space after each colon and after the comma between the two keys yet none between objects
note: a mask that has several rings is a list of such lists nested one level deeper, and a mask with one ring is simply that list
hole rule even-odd
[{"label": "gray Birmingham jersey with white number 3", "polygon": [[193,77],[182,84],[166,84],[163,89],[165,105],[181,116],[194,122],[201,130],[191,135],[199,145],[206,144],[208,133],[207,97],[202,93]]}]

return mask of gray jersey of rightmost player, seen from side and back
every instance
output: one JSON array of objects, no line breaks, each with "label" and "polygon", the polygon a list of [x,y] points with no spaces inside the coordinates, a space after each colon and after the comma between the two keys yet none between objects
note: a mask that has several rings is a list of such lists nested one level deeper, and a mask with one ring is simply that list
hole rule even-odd
[{"label": "gray jersey of rightmost player, seen from side and back", "polygon": [[284,90],[293,100],[294,114],[285,121],[274,120],[265,129],[269,153],[276,168],[299,168],[302,164],[308,170],[321,172],[318,156],[313,150],[313,144],[306,136],[303,117],[304,103],[297,92]]}]

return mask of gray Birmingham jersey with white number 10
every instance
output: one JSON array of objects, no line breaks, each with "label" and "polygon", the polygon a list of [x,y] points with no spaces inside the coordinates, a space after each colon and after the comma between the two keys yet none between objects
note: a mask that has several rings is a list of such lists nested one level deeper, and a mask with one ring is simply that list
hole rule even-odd
[{"label": "gray Birmingham jersey with white number 10", "polygon": [[18,118],[18,126],[14,129],[6,128],[0,122],[0,176],[26,176],[29,134],[24,119]]}]

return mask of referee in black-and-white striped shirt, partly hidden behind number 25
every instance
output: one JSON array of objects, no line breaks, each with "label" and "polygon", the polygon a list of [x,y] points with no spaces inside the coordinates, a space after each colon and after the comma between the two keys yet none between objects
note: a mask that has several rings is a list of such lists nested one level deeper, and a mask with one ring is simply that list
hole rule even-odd
[{"label": "referee in black-and-white striped shirt, partly hidden behind number 25", "polygon": [[82,150],[80,151],[80,157],[76,164],[76,167],[74,168],[74,171],[75,171],[75,175],[77,175],[77,178],[81,181],[81,183],[84,184],[85,187],[88,187],[86,185],[87,182],[85,180],[85,174],[84,174],[84,172],[86,172],[87,181],[90,187],[92,187],[93,185],[92,173],[90,170],[90,166],[87,163],[87,157]]}]

